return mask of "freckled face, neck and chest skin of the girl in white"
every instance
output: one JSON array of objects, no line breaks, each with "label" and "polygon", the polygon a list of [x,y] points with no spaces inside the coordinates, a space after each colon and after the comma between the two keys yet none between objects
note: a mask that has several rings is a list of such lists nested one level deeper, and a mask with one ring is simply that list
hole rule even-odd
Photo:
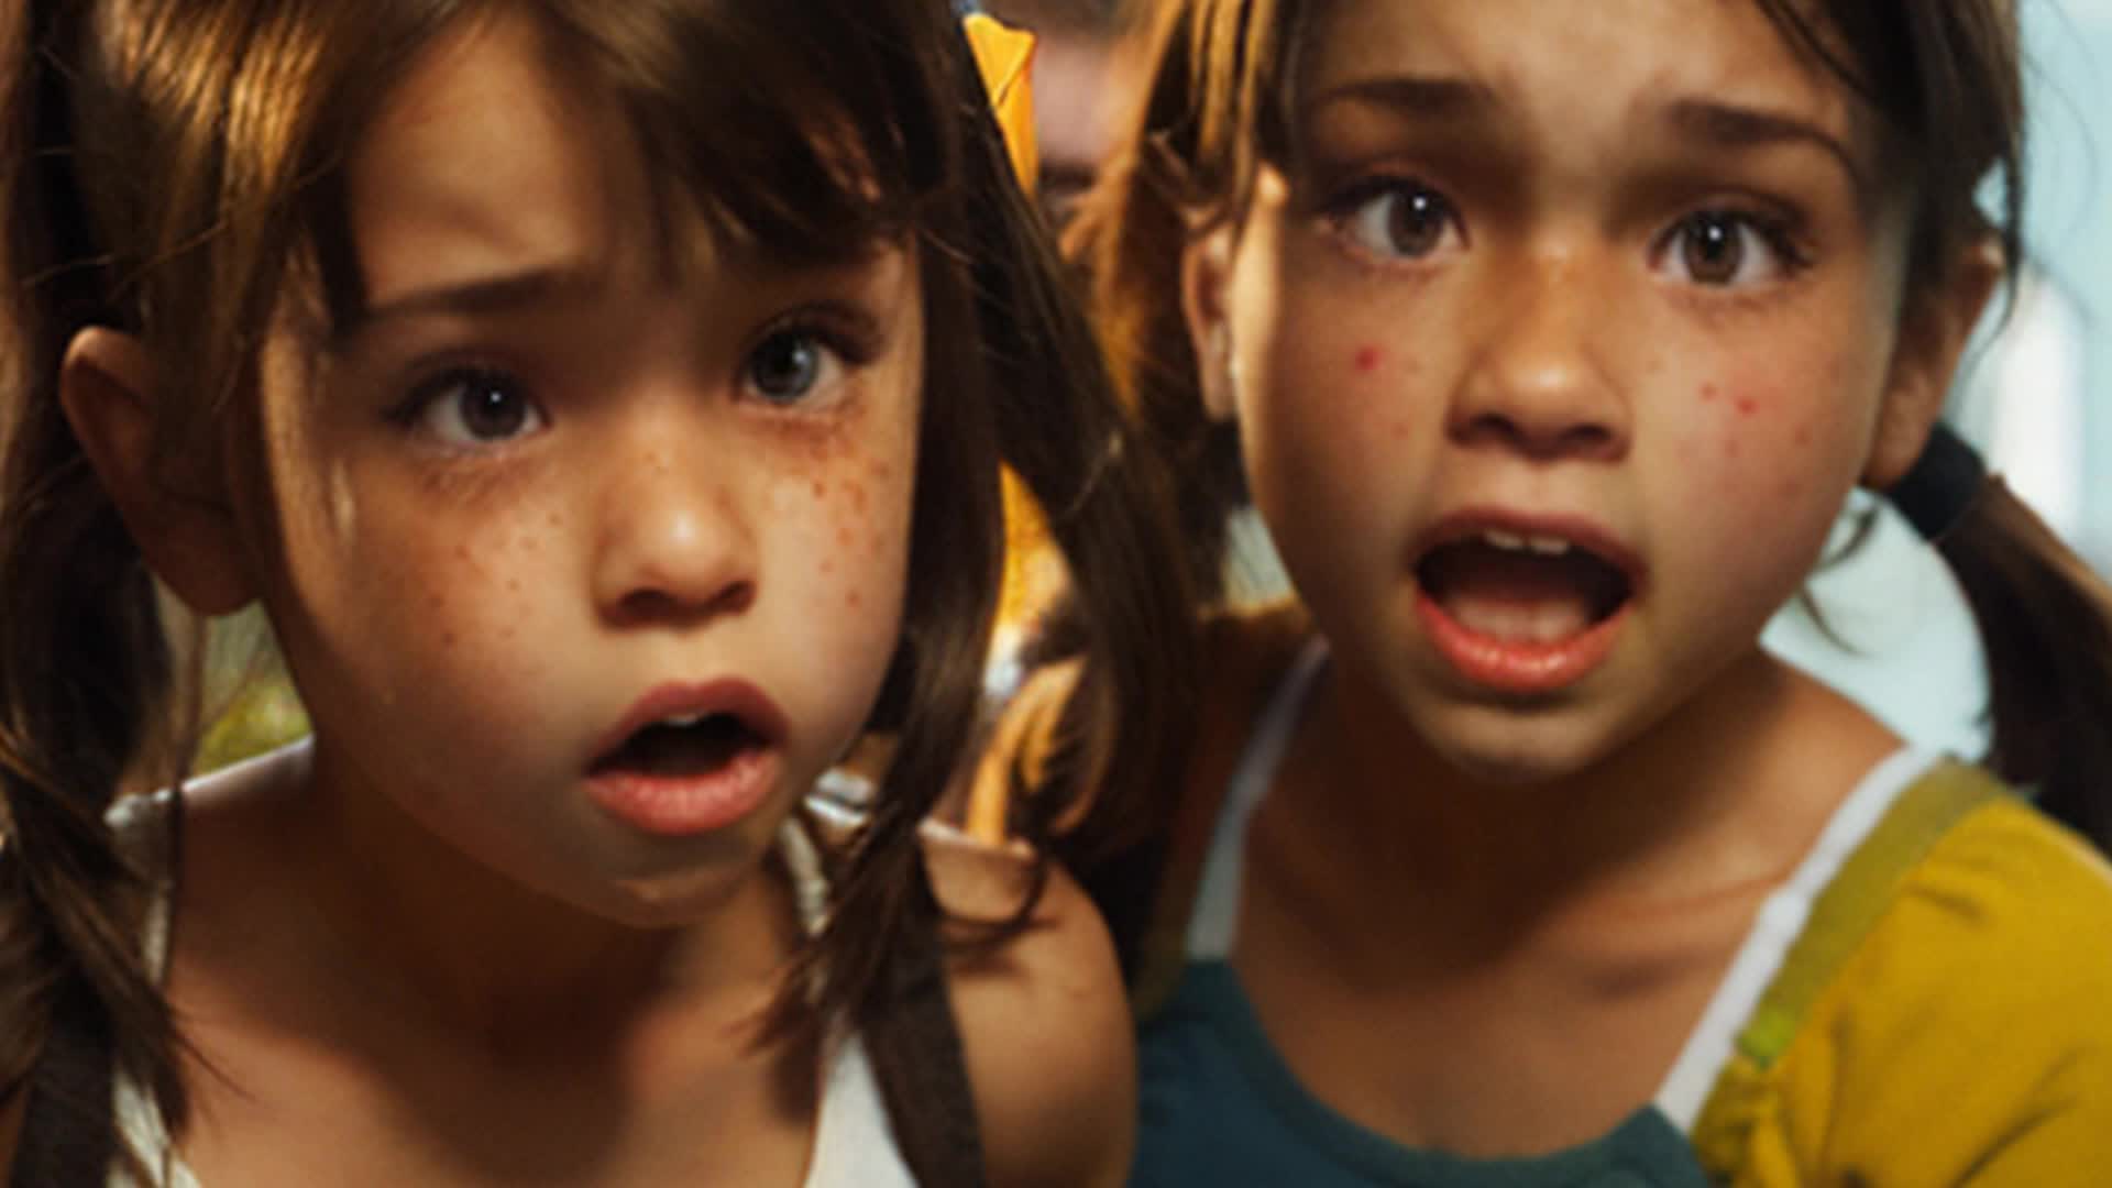
[{"label": "freckled face, neck and chest skin of the girl in white", "polygon": [[[621,120],[539,63],[503,21],[431,51],[351,161],[370,317],[296,298],[264,349],[253,577],[317,736],[192,793],[169,994],[215,1068],[182,1139],[207,1184],[319,1175],[317,1150],[418,1184],[807,1161],[815,1051],[748,1025],[796,930],[777,824],[895,651],[914,258],[670,277]],[[433,298],[520,275],[545,281]],[[788,321],[822,304],[860,323]],[[813,372],[775,400],[756,359],[786,332]],[[498,431],[469,433],[490,393]],[[604,812],[610,729],[720,679],[784,712],[762,803],[676,837]],[[374,1070],[378,1108],[348,1106]]]}]

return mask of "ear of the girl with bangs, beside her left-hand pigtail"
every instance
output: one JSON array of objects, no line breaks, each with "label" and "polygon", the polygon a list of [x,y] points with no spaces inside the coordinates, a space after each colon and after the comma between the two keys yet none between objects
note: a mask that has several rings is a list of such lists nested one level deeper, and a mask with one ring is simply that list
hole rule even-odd
[{"label": "ear of the girl with bangs, beside her left-hand pigtail", "polygon": [[[139,338],[91,326],[59,366],[59,404],[125,528],[163,583],[201,615],[256,596],[226,482],[175,488],[154,457],[154,361]],[[201,467],[201,471],[207,467]]]}]

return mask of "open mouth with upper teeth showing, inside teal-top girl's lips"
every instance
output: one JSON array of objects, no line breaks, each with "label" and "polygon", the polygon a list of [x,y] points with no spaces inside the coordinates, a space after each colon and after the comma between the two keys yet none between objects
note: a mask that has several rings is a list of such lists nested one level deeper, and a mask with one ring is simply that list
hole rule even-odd
[{"label": "open mouth with upper teeth showing, inside teal-top girl's lips", "polygon": [[1504,531],[1432,547],[1415,577],[1462,628],[1516,643],[1584,634],[1633,594],[1628,573],[1584,545]]}]

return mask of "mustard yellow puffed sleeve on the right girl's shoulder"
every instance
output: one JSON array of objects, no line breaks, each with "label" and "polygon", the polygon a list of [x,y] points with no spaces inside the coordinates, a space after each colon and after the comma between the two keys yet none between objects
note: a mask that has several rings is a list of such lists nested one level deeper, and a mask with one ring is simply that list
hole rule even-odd
[{"label": "mustard yellow puffed sleeve on the right girl's shoulder", "polygon": [[1740,1188],[2112,1184],[2112,867],[1994,793],[1854,881],[1829,894],[1865,920],[1802,955],[1804,985],[1791,953],[1694,1127],[1702,1163]]}]

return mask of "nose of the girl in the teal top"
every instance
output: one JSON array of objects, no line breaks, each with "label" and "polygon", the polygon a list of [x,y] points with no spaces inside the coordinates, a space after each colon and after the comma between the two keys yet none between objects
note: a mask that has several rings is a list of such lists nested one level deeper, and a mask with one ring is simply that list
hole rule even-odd
[{"label": "nose of the girl in the teal top", "polygon": [[1478,340],[1447,410],[1447,435],[1535,461],[1626,454],[1628,402],[1603,368],[1599,334],[1620,317],[1573,252],[1521,254],[1483,302]]}]

